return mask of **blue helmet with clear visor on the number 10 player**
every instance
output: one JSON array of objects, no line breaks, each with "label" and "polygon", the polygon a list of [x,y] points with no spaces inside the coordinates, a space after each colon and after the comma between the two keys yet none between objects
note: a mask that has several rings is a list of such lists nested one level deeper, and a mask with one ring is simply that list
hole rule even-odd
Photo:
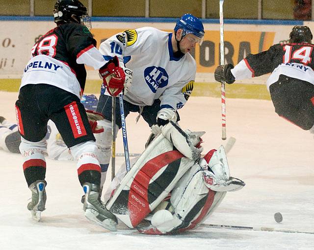
[{"label": "blue helmet with clear visor on the number 10 player", "polygon": [[177,32],[179,29],[183,30],[182,38],[186,34],[193,34],[200,38],[200,40],[198,41],[199,43],[201,43],[205,34],[202,21],[192,14],[184,14],[178,20],[174,31]]}]

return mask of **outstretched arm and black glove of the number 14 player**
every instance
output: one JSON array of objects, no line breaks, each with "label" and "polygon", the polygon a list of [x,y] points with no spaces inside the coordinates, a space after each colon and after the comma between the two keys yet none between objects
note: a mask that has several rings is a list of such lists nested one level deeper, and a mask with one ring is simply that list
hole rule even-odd
[{"label": "outstretched arm and black glove of the number 14 player", "polygon": [[274,45],[267,51],[249,54],[235,66],[232,64],[219,65],[215,69],[215,80],[232,84],[236,80],[249,79],[270,73],[275,68],[276,55],[278,55],[278,50]]}]

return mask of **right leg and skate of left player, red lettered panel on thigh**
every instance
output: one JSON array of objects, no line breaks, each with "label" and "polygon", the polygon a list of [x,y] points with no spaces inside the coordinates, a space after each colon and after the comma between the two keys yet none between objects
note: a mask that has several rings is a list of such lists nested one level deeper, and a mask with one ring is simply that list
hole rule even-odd
[{"label": "right leg and skate of left player, red lettered panel on thigh", "polygon": [[60,102],[50,111],[50,118],[58,128],[64,143],[70,148],[73,158],[77,160],[78,180],[85,192],[85,217],[106,229],[115,230],[115,216],[105,209],[99,199],[99,151],[84,106],[74,94],[65,94],[62,90],[55,91],[55,94],[60,98]]}]

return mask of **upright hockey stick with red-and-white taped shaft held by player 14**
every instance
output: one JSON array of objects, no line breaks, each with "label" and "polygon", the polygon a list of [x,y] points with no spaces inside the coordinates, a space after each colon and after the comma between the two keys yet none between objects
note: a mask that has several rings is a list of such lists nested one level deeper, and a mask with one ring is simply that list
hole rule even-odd
[{"label": "upright hockey stick with red-and-white taped shaft held by player 14", "polygon": [[[220,27],[220,65],[225,65],[225,45],[224,45],[224,0],[219,0],[219,27]],[[221,139],[226,140],[226,91],[225,82],[221,83]]]}]

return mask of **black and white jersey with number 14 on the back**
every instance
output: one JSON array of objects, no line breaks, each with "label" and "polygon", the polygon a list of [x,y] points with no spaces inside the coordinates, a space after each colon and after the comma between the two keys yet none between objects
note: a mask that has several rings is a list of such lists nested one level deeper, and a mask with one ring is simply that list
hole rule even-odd
[{"label": "black and white jersey with number 14 on the back", "polygon": [[235,80],[271,73],[266,85],[286,75],[314,84],[314,45],[307,42],[275,44],[267,51],[250,54],[231,70]]}]

